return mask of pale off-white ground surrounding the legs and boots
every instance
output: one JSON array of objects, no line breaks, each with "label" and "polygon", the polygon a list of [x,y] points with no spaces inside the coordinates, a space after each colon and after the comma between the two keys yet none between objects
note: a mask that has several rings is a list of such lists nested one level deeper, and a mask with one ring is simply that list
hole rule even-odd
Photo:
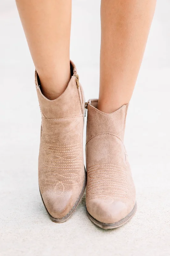
[{"label": "pale off-white ground surrounding the legs and boots", "polygon": [[[125,144],[138,209],[125,226],[103,231],[85,199],[66,223],[49,220],[37,159],[41,116],[34,67],[15,2],[0,3],[0,255],[170,255],[170,2],[158,0],[129,107]],[[86,100],[98,97],[100,1],[73,0],[71,59]]]}]

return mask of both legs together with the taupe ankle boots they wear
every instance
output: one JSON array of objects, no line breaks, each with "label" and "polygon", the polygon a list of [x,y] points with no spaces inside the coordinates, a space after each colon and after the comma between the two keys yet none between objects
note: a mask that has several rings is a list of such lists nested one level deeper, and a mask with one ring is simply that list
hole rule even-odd
[{"label": "both legs together with the taupe ankle boots they wear", "polygon": [[[63,221],[76,208],[85,187],[84,96],[69,56],[71,0],[16,2],[38,73],[41,195],[51,217]],[[101,1],[99,100],[86,104],[86,204],[93,222],[113,224],[135,209],[123,134],[155,2]]]}]

